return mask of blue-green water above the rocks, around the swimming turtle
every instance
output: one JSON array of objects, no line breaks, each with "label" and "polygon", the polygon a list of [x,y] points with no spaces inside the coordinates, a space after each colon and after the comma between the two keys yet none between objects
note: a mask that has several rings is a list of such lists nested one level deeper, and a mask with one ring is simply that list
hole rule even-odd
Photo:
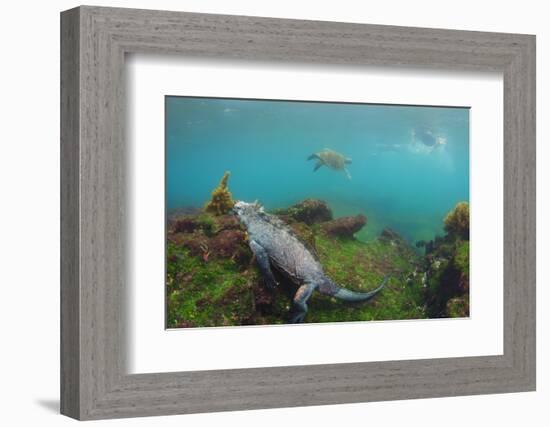
[{"label": "blue-green water above the rocks, around the swimming turtle", "polygon": [[[307,158],[352,159],[352,179]],[[391,227],[411,242],[442,234],[469,200],[469,109],[166,97],[168,211],[202,207],[229,170],[236,200],[266,209],[305,198],[363,213],[360,239]]]}]

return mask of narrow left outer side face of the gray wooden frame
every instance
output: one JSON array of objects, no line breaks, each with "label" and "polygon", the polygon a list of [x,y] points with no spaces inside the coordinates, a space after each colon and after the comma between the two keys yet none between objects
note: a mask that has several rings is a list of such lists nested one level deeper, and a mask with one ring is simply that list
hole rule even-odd
[{"label": "narrow left outer side face of the gray wooden frame", "polygon": [[80,414],[78,10],[61,20],[61,412]]}]

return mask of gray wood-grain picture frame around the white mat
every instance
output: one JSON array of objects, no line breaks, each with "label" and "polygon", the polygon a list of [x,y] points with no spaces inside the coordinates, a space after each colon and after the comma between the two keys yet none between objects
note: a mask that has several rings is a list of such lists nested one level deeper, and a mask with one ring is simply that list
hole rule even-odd
[{"label": "gray wood-grain picture frame around the white mat", "polygon": [[[504,354],[128,375],[126,53],[499,71]],[[61,412],[77,419],[535,390],[535,37],[79,7],[61,14]],[[475,183],[473,183],[475,185]]]}]

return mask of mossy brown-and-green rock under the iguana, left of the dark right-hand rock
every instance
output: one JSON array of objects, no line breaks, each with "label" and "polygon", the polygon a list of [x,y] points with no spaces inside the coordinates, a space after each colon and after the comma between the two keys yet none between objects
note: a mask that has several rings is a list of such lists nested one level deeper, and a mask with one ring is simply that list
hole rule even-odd
[{"label": "mossy brown-and-green rock under the iguana, left of the dark right-hand rock", "polygon": [[[359,241],[353,238],[353,233],[364,226],[366,218],[358,216],[332,221],[330,208],[320,200],[304,200],[285,211],[295,216],[282,215],[281,219],[288,222],[291,232],[319,259],[332,280],[357,291],[369,291],[385,275],[391,274],[393,278],[373,304],[350,305],[314,295],[308,321],[427,316],[427,309],[423,308],[426,290],[421,283],[424,270],[415,270],[422,259],[412,247],[406,246],[405,241],[399,245]],[[167,230],[166,254],[169,327],[289,321],[296,284],[275,271],[279,286],[275,290],[267,288],[252,259],[246,233],[235,216],[201,210],[172,219],[172,226]],[[176,220],[182,221],[178,227]],[[333,238],[331,233],[350,238]],[[405,281],[406,278],[409,280]]]}]

